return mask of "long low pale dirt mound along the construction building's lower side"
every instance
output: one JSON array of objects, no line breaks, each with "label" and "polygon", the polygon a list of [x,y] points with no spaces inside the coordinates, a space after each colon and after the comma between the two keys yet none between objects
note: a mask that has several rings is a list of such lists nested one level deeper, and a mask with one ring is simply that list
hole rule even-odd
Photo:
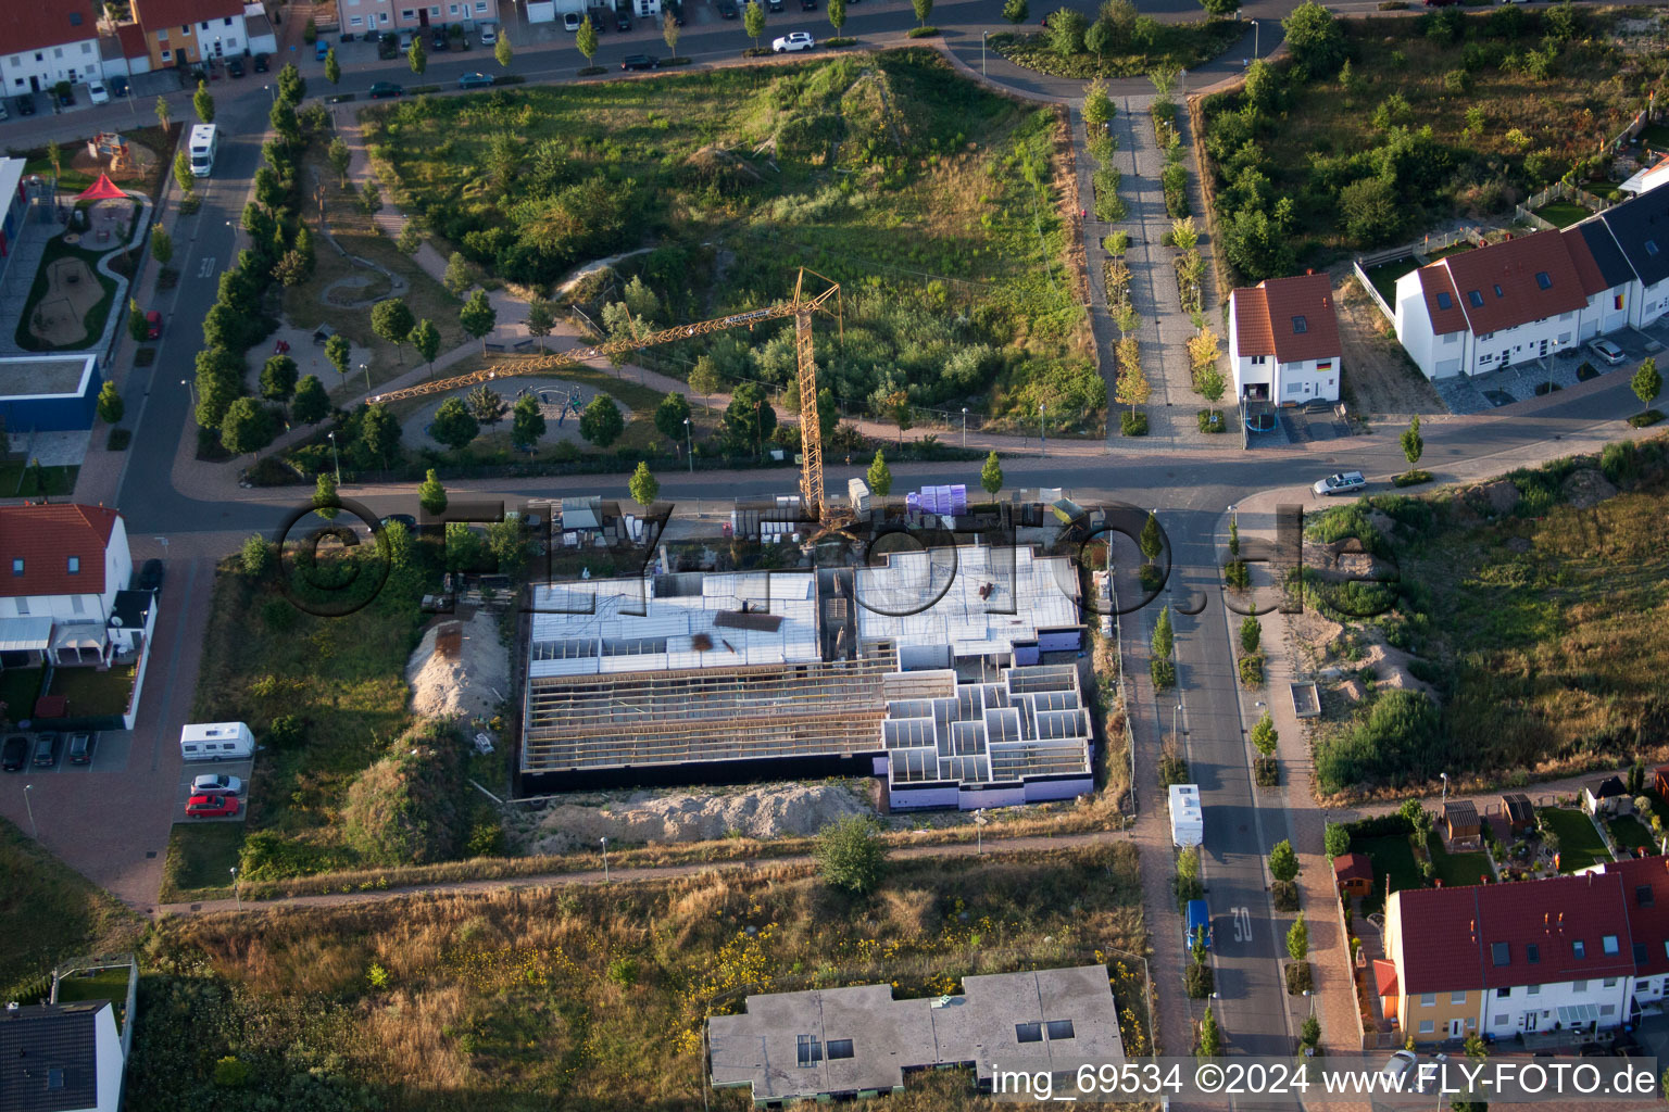
[{"label": "long low pale dirt mound along the construction building's lower side", "polygon": [[[582,800],[582,802],[581,802]],[[875,814],[863,782],[759,784],[703,794],[619,792],[564,799],[526,815],[514,835],[529,854],[619,842],[708,842],[811,835],[846,815]]]}]

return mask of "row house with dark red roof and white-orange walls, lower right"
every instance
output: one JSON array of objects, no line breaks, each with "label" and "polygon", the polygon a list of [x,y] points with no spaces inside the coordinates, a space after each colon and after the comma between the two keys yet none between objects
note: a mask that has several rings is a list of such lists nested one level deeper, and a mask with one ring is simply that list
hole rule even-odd
[{"label": "row house with dark red roof and white-orange walls, lower right", "polygon": [[1380,995],[1415,1042],[1619,1027],[1669,989],[1669,859],[1394,892],[1385,952]]}]

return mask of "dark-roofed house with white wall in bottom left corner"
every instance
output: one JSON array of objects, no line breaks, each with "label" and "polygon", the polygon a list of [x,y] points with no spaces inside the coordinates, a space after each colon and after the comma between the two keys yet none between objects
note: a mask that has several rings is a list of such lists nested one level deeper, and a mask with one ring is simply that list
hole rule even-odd
[{"label": "dark-roofed house with white wall in bottom left corner", "polygon": [[110,1000],[7,1004],[0,1015],[0,1109],[117,1112],[124,1064]]}]

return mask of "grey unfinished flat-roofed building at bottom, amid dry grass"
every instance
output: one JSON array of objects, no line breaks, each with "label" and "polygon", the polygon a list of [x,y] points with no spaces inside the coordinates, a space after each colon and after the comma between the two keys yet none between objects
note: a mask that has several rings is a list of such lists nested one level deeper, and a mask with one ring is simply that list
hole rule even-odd
[{"label": "grey unfinished flat-roofed building at bottom, amid dry grass", "polygon": [[714,1089],[749,1085],[759,1107],[900,1092],[910,1074],[970,1065],[1070,1074],[1118,1064],[1118,1005],[1103,965],[963,979],[963,995],[895,1000],[891,985],[751,995],[708,1019]]}]

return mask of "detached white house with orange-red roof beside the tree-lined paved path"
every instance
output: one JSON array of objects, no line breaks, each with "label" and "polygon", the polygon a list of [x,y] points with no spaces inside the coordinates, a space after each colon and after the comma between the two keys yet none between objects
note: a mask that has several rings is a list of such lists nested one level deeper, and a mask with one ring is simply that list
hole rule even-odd
[{"label": "detached white house with orange-red roof beside the tree-lined paved path", "polygon": [[1332,280],[1267,278],[1228,295],[1228,362],[1238,400],[1337,402],[1342,373]]}]

